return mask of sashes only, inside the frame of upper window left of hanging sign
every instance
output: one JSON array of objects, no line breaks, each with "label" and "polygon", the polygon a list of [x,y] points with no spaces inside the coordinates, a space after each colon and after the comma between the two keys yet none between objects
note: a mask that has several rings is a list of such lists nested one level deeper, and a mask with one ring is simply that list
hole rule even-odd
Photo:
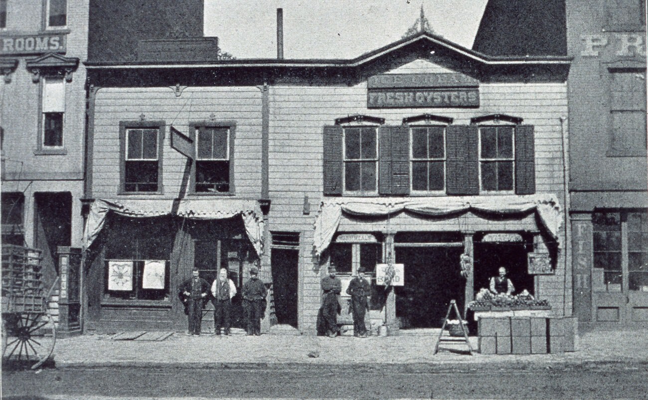
[{"label": "sashes only, inside the frame of upper window left of hanging sign", "polygon": [[159,129],[126,129],[125,192],[157,192]]}]

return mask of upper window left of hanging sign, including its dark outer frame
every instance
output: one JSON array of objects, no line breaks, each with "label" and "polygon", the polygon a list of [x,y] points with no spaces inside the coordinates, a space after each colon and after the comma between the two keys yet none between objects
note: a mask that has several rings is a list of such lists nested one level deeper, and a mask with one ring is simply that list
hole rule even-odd
[{"label": "upper window left of hanging sign, including its dark outer frame", "polygon": [[164,122],[122,122],[120,192],[162,192]]}]

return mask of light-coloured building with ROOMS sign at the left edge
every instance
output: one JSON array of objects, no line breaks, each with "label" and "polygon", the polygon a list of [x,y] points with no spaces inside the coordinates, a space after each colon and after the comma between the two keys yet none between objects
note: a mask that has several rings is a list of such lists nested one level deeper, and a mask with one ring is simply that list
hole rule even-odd
[{"label": "light-coloured building with ROOMS sign at the left edge", "polygon": [[85,0],[0,1],[2,242],[43,250],[46,289],[57,247],[81,245],[87,12]]}]

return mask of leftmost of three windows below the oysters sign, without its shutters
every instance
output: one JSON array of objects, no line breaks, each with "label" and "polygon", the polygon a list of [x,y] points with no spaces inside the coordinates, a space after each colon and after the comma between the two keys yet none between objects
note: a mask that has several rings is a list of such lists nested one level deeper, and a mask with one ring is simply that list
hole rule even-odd
[{"label": "leftmost of three windows below the oysters sign, without its shutters", "polygon": [[344,190],[347,194],[378,191],[378,128],[343,129]]}]

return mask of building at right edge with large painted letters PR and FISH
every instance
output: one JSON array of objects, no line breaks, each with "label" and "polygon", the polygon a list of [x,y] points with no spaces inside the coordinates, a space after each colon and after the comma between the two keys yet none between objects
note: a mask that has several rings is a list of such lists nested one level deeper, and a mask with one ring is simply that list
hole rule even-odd
[{"label": "building at right edge with large painted letters PR and FISH", "polygon": [[648,324],[645,1],[566,1],[574,314]]}]

